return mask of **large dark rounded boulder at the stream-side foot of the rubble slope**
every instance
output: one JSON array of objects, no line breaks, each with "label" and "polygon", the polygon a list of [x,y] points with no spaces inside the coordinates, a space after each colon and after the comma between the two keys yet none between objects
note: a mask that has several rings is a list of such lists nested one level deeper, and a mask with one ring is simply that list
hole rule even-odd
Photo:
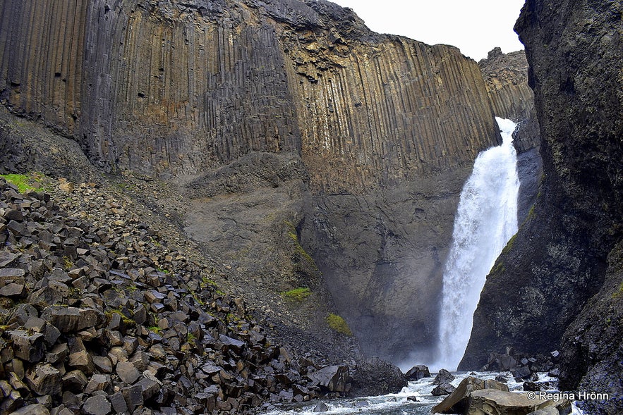
[{"label": "large dark rounded boulder at the stream-side foot of the rubble slope", "polygon": [[360,361],[353,371],[349,396],[387,395],[407,386],[400,368],[377,357]]}]

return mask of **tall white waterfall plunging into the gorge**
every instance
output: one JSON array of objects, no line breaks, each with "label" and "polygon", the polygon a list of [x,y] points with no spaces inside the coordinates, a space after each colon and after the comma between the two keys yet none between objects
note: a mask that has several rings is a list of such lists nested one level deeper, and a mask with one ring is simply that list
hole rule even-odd
[{"label": "tall white waterfall plunging into the gorge", "polygon": [[502,145],[478,154],[461,191],[452,247],[444,268],[437,368],[456,370],[467,347],[473,312],[495,259],[517,232],[516,124],[495,118]]}]

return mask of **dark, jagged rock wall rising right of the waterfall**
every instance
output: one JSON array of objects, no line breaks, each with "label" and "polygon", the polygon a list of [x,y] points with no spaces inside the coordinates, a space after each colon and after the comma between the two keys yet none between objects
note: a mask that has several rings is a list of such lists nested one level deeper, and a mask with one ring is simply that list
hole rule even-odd
[{"label": "dark, jagged rock wall rising right of the waterfall", "polygon": [[[521,12],[545,176],[533,214],[488,277],[460,368],[479,368],[511,345],[548,352],[567,330],[562,384],[609,382],[622,393],[620,366],[608,364],[622,338],[612,325],[623,237],[622,13],[620,2],[600,0],[530,0]],[[605,313],[590,330],[589,304]],[[620,399],[587,405],[621,411]]]}]

